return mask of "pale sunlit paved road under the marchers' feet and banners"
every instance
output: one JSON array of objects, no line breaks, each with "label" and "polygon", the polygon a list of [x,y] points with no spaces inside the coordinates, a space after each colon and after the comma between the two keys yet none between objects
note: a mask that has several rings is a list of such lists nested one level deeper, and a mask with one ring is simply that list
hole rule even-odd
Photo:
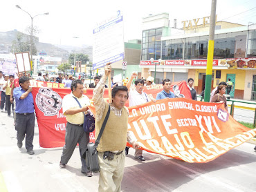
[{"label": "pale sunlit paved road under the marchers' feet and banners", "polygon": [[[35,155],[17,148],[12,117],[0,113],[0,191],[98,191],[98,174],[80,173],[79,150],[66,169],[59,168],[62,148],[39,147],[35,128]],[[256,191],[256,153],[253,144],[242,144],[206,164],[190,164],[145,153],[145,162],[126,158],[122,191]]]}]

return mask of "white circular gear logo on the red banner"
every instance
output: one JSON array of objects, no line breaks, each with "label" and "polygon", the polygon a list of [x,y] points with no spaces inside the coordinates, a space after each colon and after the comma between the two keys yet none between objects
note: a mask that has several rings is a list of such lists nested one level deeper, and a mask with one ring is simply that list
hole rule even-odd
[{"label": "white circular gear logo on the red banner", "polygon": [[62,108],[62,97],[51,88],[39,88],[35,102],[45,116],[57,115]]}]

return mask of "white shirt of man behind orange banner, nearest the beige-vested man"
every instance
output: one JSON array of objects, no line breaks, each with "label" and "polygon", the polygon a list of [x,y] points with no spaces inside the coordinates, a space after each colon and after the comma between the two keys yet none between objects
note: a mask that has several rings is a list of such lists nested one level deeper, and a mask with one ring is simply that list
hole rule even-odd
[{"label": "white shirt of man behind orange banner, nearest the beige-vested man", "polygon": [[138,106],[150,102],[149,96],[142,92],[138,93],[137,90],[130,90],[129,92],[129,106]]}]

